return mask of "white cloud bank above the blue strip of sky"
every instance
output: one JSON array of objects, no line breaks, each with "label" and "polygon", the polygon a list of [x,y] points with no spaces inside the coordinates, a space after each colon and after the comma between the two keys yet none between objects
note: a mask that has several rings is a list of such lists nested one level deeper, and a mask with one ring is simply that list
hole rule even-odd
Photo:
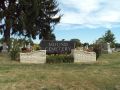
[{"label": "white cloud bank above the blue strip of sky", "polygon": [[60,0],[61,23],[111,28],[120,23],[120,0]]}]

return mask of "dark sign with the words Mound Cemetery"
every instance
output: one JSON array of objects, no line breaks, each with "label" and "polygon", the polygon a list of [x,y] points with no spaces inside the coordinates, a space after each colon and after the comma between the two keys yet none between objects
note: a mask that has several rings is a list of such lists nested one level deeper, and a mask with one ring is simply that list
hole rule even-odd
[{"label": "dark sign with the words Mound Cemetery", "polygon": [[71,53],[74,49],[74,42],[72,41],[49,41],[43,40],[40,42],[42,50],[46,50],[47,54],[65,54]]}]

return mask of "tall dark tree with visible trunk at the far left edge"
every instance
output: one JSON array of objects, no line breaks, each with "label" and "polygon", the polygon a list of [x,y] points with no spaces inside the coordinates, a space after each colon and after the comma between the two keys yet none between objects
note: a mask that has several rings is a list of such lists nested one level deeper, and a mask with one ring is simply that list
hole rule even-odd
[{"label": "tall dark tree with visible trunk at the far left edge", "polygon": [[0,20],[4,19],[5,22],[0,29],[4,32],[5,42],[9,42],[11,29],[14,24],[17,24],[16,20],[19,15],[17,0],[0,0]]}]

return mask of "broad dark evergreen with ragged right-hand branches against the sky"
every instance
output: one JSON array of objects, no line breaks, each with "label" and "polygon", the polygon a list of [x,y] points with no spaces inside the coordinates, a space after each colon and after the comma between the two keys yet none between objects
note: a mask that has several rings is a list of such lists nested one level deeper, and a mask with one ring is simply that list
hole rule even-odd
[{"label": "broad dark evergreen with ragged right-hand branches against the sky", "polygon": [[37,35],[43,40],[51,40],[53,37],[55,39],[52,32],[61,18],[56,16],[60,11],[57,2],[55,0],[23,0],[20,3],[23,4],[20,17],[23,27],[21,34],[33,39]]}]

